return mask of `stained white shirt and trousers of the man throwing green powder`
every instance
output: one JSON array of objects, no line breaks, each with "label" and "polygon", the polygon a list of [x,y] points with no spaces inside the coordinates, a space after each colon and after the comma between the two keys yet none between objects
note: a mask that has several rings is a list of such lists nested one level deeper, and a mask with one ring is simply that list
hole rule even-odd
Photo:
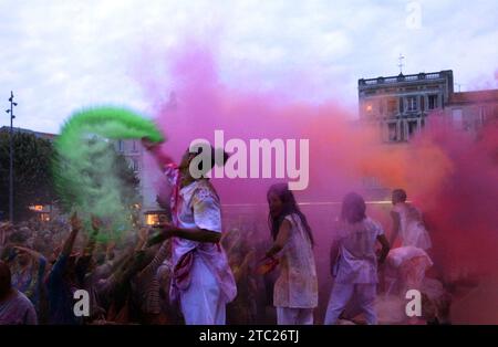
[{"label": "stained white shirt and trousers of the man throwing green powder", "polygon": [[[181,188],[177,202],[177,227],[221,233],[219,198],[208,180],[196,180]],[[189,252],[193,255],[190,284],[186,288],[178,288],[173,281],[173,297],[179,294],[176,297],[179,298],[186,324],[222,325],[226,304],[237,294],[226,253],[219,243],[173,239],[173,264],[178,264]]]}]

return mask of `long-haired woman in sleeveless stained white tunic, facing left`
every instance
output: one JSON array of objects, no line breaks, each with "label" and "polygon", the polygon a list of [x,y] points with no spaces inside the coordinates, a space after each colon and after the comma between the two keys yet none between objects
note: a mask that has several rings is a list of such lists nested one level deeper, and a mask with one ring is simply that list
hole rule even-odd
[{"label": "long-haired woman in sleeveless stained white tunic, facing left", "polygon": [[273,245],[266,259],[278,256],[280,275],[273,287],[279,325],[312,325],[318,305],[313,235],[287,183],[270,187],[269,227]]}]

